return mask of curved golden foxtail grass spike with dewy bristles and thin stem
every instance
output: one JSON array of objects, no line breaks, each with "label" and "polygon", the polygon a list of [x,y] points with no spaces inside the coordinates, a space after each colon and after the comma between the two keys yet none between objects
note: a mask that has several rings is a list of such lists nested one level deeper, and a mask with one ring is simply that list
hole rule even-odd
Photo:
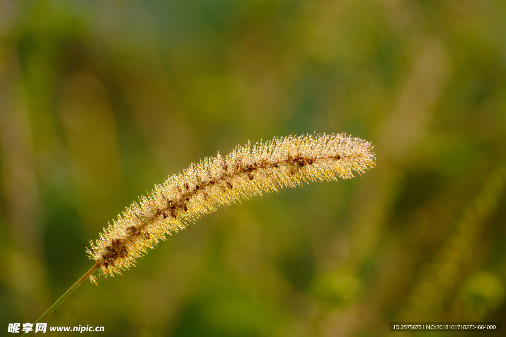
[{"label": "curved golden foxtail grass spike with dewy bristles and thin stem", "polygon": [[[225,158],[219,153],[169,176],[133,202],[90,241],[94,266],[36,322],[56,307],[98,269],[103,277],[135,266],[148,249],[204,214],[263,192],[297,187],[312,181],[349,179],[375,166],[369,142],[340,134],[276,137],[238,146]],[[96,282],[95,282],[96,283]]]}]

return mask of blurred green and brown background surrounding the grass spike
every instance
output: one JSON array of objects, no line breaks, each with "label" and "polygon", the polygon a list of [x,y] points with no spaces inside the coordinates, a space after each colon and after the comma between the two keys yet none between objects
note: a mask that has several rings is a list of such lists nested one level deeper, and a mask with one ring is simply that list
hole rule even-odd
[{"label": "blurred green and brown background surrounding the grass spike", "polygon": [[35,321],[168,174],[313,131],[371,141],[377,167],[222,208],[47,322],[377,336],[503,320],[505,22],[498,0],[0,0],[0,328]]}]

